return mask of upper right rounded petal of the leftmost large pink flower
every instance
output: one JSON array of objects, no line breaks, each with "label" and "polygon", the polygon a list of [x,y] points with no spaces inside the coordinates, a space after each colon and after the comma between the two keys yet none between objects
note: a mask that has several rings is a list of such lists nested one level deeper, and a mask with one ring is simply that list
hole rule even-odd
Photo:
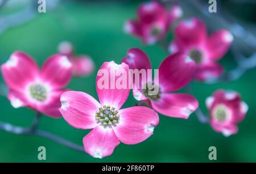
[{"label": "upper right rounded petal of the leftmost large pink flower", "polygon": [[47,59],[42,69],[42,79],[55,89],[67,86],[72,78],[72,63],[67,56],[53,55]]}]

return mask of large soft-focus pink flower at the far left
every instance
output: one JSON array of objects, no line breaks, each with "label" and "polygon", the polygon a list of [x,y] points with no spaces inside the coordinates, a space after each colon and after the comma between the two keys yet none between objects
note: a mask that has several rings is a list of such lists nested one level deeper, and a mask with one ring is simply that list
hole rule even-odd
[{"label": "large soft-focus pink flower at the far left", "polygon": [[66,56],[49,57],[39,70],[26,53],[14,52],[1,70],[14,108],[29,107],[47,116],[61,117],[60,95],[67,91],[63,88],[72,78],[72,64]]}]

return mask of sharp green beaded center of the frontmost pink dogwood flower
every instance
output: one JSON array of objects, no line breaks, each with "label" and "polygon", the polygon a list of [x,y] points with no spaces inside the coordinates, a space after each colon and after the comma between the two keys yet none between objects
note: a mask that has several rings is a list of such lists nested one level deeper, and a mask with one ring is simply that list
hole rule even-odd
[{"label": "sharp green beaded center of the frontmost pink dogwood flower", "polygon": [[96,120],[103,126],[112,126],[119,120],[118,111],[114,107],[104,105],[96,112]]}]

